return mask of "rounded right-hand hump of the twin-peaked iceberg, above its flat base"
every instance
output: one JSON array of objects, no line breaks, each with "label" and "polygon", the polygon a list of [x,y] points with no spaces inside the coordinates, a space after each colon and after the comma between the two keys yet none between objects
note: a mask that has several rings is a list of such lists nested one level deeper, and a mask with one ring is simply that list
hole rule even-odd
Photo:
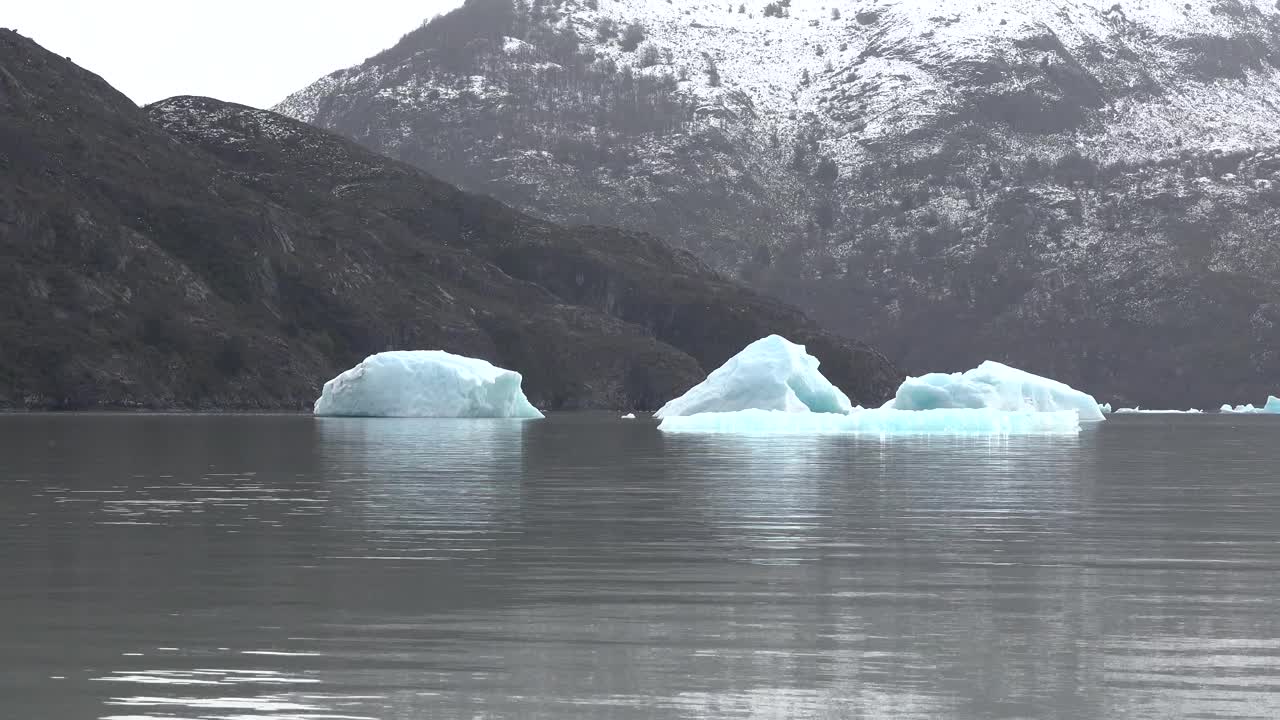
[{"label": "rounded right-hand hump of the twin-peaked iceberg, above its flat base", "polygon": [[988,360],[964,373],[908,378],[884,405],[895,410],[989,409],[1057,413],[1074,410],[1083,423],[1105,420],[1098,401],[1073,387]]}]

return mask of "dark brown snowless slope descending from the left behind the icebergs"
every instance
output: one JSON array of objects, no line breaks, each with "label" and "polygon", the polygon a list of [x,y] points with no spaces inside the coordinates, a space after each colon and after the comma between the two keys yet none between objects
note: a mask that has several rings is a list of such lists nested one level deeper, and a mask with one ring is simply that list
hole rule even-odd
[{"label": "dark brown snowless slope descending from the left behind the icebergs", "polygon": [[563,228],[282,115],[140,109],[0,31],[0,406],[300,409],[443,348],[544,409],[652,409],[772,332],[863,402],[869,347],[635,232]]}]

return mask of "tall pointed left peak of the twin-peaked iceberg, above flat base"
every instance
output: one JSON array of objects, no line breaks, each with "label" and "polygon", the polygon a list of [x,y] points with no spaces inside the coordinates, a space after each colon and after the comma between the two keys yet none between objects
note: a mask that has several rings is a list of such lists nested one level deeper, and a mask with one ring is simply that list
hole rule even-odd
[{"label": "tall pointed left peak of the twin-peaked iceberg, above flat base", "polygon": [[663,405],[654,418],[737,410],[846,414],[852,404],[822,377],[818,359],[805,352],[803,345],[769,336],[746,346],[705,380]]}]

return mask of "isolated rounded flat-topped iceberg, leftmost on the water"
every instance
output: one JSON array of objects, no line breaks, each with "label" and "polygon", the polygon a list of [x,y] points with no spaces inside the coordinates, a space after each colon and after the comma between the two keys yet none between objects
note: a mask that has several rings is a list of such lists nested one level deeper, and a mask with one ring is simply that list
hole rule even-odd
[{"label": "isolated rounded flat-topped iceberg, leftmost on the water", "polygon": [[520,373],[439,350],[371,355],[324,384],[316,415],[352,418],[522,418],[543,414]]}]

